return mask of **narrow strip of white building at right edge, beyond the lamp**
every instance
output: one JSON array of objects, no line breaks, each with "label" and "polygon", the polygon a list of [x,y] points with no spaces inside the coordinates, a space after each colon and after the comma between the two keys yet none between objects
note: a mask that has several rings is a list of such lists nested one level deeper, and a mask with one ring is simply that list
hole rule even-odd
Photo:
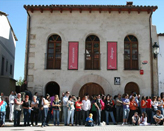
[{"label": "narrow strip of white building at right edge, beyond the lamp", "polygon": [[159,55],[158,55],[158,77],[159,93],[164,92],[164,33],[158,34]]}]

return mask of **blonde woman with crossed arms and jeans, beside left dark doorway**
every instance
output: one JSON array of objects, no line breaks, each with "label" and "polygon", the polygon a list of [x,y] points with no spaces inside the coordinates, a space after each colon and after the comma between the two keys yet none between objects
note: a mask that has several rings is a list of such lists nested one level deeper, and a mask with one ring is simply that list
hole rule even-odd
[{"label": "blonde woman with crossed arms and jeans, beside left dark doorway", "polygon": [[[52,110],[53,110],[54,125],[55,126],[56,126],[56,123],[59,126],[59,111],[60,111],[59,109],[60,109],[60,106],[61,106],[61,101],[59,100],[59,96],[55,95],[55,100],[52,102]],[[57,122],[56,122],[56,119],[57,119]]]}]

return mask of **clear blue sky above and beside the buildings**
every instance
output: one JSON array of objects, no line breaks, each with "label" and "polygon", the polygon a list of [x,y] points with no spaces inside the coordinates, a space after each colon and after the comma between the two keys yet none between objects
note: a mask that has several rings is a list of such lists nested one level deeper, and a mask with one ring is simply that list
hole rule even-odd
[{"label": "clear blue sky above and beside the buildings", "polygon": [[157,33],[164,33],[164,0],[0,0],[0,11],[8,14],[9,21],[18,38],[14,79],[24,78],[27,13],[23,5],[125,5],[127,1],[133,1],[133,5],[158,6],[153,13],[152,23],[157,26]]}]

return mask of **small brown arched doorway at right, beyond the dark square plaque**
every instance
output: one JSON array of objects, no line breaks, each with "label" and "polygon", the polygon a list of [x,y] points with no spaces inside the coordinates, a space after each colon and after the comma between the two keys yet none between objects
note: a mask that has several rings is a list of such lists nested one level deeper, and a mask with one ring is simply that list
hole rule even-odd
[{"label": "small brown arched doorway at right, beyond the dark square plaque", "polygon": [[131,95],[132,91],[136,92],[137,94],[140,94],[138,85],[134,82],[129,82],[126,84],[124,92]]}]

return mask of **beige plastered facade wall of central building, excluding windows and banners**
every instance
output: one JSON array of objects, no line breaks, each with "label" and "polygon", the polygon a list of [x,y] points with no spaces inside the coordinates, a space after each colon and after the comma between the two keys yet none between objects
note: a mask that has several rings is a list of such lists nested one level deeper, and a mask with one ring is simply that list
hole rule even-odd
[{"label": "beige plastered facade wall of central building, excluding windows and banners", "polygon": [[[151,69],[150,69],[150,36],[149,36],[149,15],[147,12],[85,12],[77,11],[63,12],[34,11],[31,15],[31,39],[30,57],[28,71],[28,87],[34,92],[41,94],[45,92],[45,86],[50,81],[55,81],[60,86],[60,93],[69,90],[79,93],[78,81],[84,76],[95,75],[86,82],[107,81],[103,87],[107,93],[115,95],[123,93],[128,82],[135,82],[140,88],[141,95],[151,95]],[[62,60],[61,70],[46,70],[47,39],[52,34],[58,34],[62,39]],[[84,70],[85,39],[88,35],[95,34],[100,39],[101,70]],[[144,75],[137,71],[124,70],[124,38],[126,35],[134,35],[139,43],[139,68],[144,70]],[[79,68],[77,71],[67,70],[68,68],[68,42],[79,42]],[[118,43],[118,70],[107,70],[107,41]],[[142,61],[147,60],[147,65]],[[96,77],[98,76],[98,77]],[[114,85],[114,77],[121,77],[121,85]],[[88,79],[87,79],[88,78]],[[103,80],[101,80],[103,79]],[[82,83],[80,81],[80,83]],[[85,84],[85,83],[84,83]],[[77,90],[74,90],[77,88]]]}]

